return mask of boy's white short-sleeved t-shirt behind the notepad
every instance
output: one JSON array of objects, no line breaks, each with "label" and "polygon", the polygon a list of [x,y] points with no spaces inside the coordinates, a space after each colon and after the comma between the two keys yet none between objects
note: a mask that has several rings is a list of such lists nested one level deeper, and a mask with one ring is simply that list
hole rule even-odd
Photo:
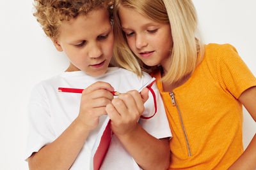
[{"label": "boy's white short-sleeved t-shirt behind the notepad", "polygon": [[[109,67],[104,75],[98,77],[89,76],[83,71],[73,71],[62,73],[59,76],[38,83],[31,92],[31,99],[28,105],[29,135],[26,159],[33,152],[38,152],[42,146],[52,143],[58,138],[79,114],[81,94],[58,92],[58,87],[86,89],[96,81],[106,81],[116,91],[124,93],[129,90],[140,89],[150,79],[151,77],[147,73],[144,73],[143,78],[140,79],[131,71],[119,67]],[[156,93],[157,113],[150,119],[140,118],[139,123],[148,134],[158,139],[171,137],[172,134],[156,83],[152,86],[152,89]],[[154,101],[150,92],[149,99],[144,106],[143,116],[149,117],[154,114]],[[90,169],[93,143],[106,117],[107,115],[104,115],[99,118],[98,127],[90,132],[81,152],[70,169]],[[140,169],[140,167],[114,134],[100,169]]]}]

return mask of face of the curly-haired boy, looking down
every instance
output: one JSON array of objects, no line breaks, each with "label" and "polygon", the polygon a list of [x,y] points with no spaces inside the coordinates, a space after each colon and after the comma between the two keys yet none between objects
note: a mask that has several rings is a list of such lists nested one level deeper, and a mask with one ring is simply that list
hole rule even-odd
[{"label": "face of the curly-haired boy, looking down", "polygon": [[67,71],[84,71],[90,76],[106,72],[113,54],[113,30],[108,10],[92,10],[61,25],[60,36],[52,40],[70,60]]}]

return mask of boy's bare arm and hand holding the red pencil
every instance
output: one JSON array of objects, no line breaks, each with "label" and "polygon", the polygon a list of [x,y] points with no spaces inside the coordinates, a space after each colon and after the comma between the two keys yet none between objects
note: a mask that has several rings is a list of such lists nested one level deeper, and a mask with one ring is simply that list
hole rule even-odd
[{"label": "boy's bare arm and hand holding the red pencil", "polygon": [[78,117],[56,140],[28,158],[29,169],[69,169],[99,117],[106,114],[106,104],[113,99],[111,91],[113,87],[103,82],[83,90]]}]

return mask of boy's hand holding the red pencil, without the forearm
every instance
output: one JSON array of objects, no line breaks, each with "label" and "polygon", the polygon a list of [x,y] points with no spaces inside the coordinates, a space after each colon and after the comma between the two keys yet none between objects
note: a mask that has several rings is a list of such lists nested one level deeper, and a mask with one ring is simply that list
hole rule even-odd
[{"label": "boy's hand holding the red pencil, without the forearm", "polygon": [[77,121],[92,130],[99,124],[99,117],[106,115],[106,105],[113,99],[113,87],[109,83],[98,81],[83,90]]}]

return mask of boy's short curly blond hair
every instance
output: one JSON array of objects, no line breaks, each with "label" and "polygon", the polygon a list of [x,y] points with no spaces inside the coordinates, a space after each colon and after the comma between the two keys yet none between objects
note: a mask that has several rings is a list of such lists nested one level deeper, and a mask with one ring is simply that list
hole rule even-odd
[{"label": "boy's short curly blond hair", "polygon": [[97,8],[109,11],[109,20],[113,15],[113,0],[35,0],[33,15],[42,26],[45,34],[51,39],[57,39],[60,25],[78,15],[86,15]]}]

